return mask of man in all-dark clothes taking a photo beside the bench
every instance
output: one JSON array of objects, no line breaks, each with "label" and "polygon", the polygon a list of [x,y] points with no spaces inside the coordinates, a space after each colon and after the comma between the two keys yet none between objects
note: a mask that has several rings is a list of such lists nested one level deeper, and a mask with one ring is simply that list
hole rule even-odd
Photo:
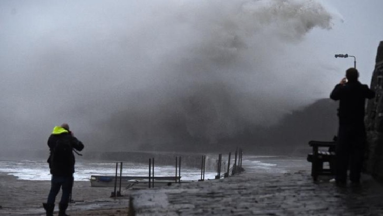
[{"label": "man in all-dark clothes taking a photo beside the bench", "polygon": [[346,186],[349,166],[351,183],[360,184],[366,139],[364,107],[366,99],[374,98],[375,92],[367,85],[361,84],[358,77],[359,74],[355,68],[347,69],[346,78],[335,85],[330,94],[332,100],[339,100],[339,129],[335,148],[337,186]]}]

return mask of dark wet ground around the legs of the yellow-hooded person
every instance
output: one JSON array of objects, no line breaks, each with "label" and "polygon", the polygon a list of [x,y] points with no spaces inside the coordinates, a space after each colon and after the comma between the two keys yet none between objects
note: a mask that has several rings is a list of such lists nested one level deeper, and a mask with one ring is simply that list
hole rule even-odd
[{"label": "dark wet ground around the legs of the yellow-hooded person", "polygon": [[[51,181],[20,180],[0,172],[0,215],[43,216]],[[72,216],[114,215],[126,216],[129,208],[129,190],[121,189],[123,197],[110,198],[112,188],[92,188],[89,181],[74,181],[72,200],[67,213]],[[56,196],[55,212],[61,191]]]}]

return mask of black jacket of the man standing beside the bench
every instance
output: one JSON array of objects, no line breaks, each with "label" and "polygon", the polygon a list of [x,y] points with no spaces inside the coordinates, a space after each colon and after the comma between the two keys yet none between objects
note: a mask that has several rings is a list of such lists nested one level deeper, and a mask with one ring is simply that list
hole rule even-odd
[{"label": "black jacket of the man standing beside the bench", "polygon": [[339,124],[364,125],[366,99],[375,97],[375,92],[359,81],[337,84],[330,94],[332,100],[339,100]]}]

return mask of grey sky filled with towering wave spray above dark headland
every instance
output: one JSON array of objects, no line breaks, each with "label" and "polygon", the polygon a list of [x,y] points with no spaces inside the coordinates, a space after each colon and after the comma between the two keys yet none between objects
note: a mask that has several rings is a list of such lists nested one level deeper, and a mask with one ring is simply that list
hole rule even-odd
[{"label": "grey sky filled with towering wave spray above dark headland", "polygon": [[356,55],[369,84],[381,8],[381,0],[2,0],[0,146],[45,149],[63,122],[94,150],[184,136],[215,142],[274,124],[328,97],[353,66],[334,54]]}]

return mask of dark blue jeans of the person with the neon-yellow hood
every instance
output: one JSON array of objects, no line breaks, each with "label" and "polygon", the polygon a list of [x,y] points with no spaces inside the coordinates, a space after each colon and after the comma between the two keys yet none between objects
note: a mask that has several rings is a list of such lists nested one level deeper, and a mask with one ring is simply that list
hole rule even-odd
[{"label": "dark blue jeans of the person with the neon-yellow hood", "polygon": [[52,176],[51,180],[51,191],[48,195],[48,204],[54,204],[56,196],[62,189],[61,201],[60,203],[69,203],[69,196],[72,191],[73,186],[73,176]]}]

